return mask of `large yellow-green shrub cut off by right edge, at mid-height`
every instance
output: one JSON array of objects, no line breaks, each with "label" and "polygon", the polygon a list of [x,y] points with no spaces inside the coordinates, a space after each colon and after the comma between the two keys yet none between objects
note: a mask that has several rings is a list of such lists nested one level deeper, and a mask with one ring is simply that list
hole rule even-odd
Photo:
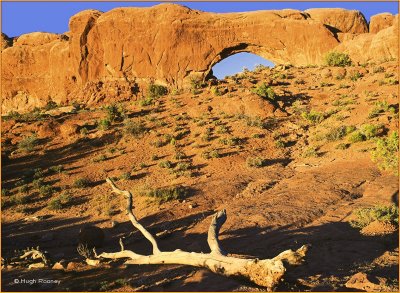
[{"label": "large yellow-green shrub cut off by right edge, at mid-height", "polygon": [[399,174],[399,134],[393,131],[388,137],[380,138],[376,142],[376,149],[372,151],[372,160],[378,163],[382,170]]}]

